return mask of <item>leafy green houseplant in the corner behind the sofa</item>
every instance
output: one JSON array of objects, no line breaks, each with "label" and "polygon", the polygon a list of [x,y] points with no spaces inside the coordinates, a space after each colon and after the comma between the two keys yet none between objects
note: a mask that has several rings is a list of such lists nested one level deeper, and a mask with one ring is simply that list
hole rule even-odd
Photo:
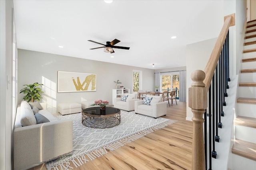
[{"label": "leafy green houseplant in the corner behind the sofa", "polygon": [[38,83],[23,85],[23,86],[26,86],[25,88],[20,90],[20,93],[26,94],[26,96],[24,96],[23,99],[28,102],[30,101],[34,102],[35,100],[40,101],[40,99],[42,99],[40,93],[44,93],[41,89],[43,85],[44,84],[38,84]]}]

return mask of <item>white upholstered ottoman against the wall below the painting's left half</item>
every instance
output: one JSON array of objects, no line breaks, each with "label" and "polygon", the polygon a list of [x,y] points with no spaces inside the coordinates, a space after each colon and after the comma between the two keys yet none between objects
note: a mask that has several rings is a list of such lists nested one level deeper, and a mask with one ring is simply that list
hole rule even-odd
[{"label": "white upholstered ottoman against the wall below the painting's left half", "polygon": [[60,103],[58,104],[58,111],[62,115],[80,113],[81,104],[79,103]]}]

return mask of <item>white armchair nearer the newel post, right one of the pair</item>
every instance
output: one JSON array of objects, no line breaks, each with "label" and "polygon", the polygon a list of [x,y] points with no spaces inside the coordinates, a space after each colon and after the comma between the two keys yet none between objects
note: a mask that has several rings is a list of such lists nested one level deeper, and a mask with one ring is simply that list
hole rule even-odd
[{"label": "white armchair nearer the newel post, right one of the pair", "polygon": [[167,107],[166,103],[162,102],[162,96],[146,96],[153,97],[150,105],[143,104],[143,100],[134,102],[134,111],[142,115],[151,116],[154,118],[166,115]]}]

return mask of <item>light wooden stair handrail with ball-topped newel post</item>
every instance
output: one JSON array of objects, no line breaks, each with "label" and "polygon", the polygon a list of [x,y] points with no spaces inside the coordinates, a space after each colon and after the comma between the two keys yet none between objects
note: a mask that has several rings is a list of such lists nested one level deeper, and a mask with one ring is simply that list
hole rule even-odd
[{"label": "light wooden stair handrail with ball-topped newel post", "polygon": [[193,82],[191,87],[188,88],[188,106],[193,112],[192,121],[194,125],[192,142],[192,170],[205,169],[203,114],[207,108],[208,89],[210,87],[228,29],[230,26],[234,25],[234,18],[235,14],[224,17],[224,25],[220,31],[220,35],[218,36],[204,71],[195,70],[191,74],[191,79]]}]

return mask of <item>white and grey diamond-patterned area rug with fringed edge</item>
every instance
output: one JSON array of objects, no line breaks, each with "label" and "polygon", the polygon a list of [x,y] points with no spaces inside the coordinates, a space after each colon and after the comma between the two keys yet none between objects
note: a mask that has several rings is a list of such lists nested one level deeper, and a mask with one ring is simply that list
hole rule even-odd
[{"label": "white and grey diamond-patterned area rug with fringed edge", "polygon": [[94,160],[107,150],[118,149],[158,129],[176,121],[158,117],[135,114],[134,111],[121,110],[121,123],[108,129],[94,129],[82,125],[81,113],[58,116],[57,119],[73,120],[73,151],[45,163],[48,170],[73,169]]}]

